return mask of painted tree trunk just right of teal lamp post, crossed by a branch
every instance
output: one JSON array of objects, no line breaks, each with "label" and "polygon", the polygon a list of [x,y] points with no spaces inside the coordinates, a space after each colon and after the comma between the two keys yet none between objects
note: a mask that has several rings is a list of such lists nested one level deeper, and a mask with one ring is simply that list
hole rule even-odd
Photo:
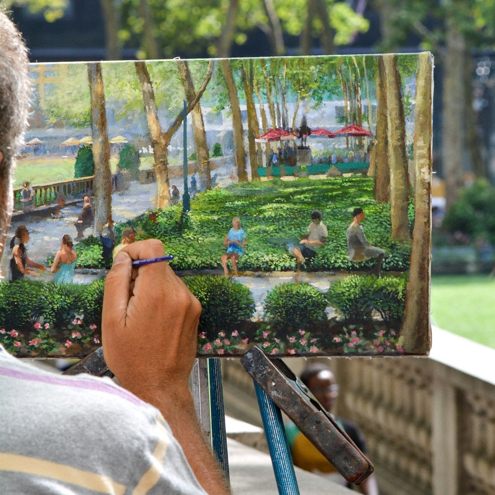
[{"label": "painted tree trunk just right of teal lamp post, crossed by a branch", "polygon": [[[196,98],[194,82],[189,70],[189,65],[185,60],[178,60],[179,73],[184,84],[186,100],[191,103]],[[206,142],[206,131],[204,130],[204,120],[201,111],[201,105],[196,103],[193,108],[192,125],[194,134],[194,143],[196,145],[196,153],[198,155],[198,175],[199,189],[201,191],[211,190],[211,172],[210,172],[210,153]]]}]

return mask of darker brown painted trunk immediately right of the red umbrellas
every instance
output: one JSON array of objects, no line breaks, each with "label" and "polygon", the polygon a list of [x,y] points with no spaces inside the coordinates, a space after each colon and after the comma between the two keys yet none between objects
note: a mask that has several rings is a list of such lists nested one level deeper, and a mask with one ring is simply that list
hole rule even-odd
[{"label": "darker brown painted trunk immediately right of the red umbrellas", "polygon": [[[389,201],[390,193],[390,166],[388,153],[387,127],[387,91],[385,88],[385,66],[383,59],[378,59],[376,72],[376,144],[373,148],[373,166],[375,167],[375,199],[379,203]],[[370,161],[371,161],[370,156]],[[371,166],[371,165],[370,165]]]}]

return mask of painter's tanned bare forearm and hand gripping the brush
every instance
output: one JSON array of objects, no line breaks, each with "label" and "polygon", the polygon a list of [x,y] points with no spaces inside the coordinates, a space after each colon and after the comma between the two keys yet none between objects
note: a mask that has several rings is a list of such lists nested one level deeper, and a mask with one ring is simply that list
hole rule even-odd
[{"label": "painter's tanned bare forearm and hand gripping the brush", "polygon": [[161,411],[204,490],[228,494],[188,389],[201,306],[167,263],[131,264],[163,255],[161,242],[147,240],[115,257],[103,298],[105,361],[123,387]]}]

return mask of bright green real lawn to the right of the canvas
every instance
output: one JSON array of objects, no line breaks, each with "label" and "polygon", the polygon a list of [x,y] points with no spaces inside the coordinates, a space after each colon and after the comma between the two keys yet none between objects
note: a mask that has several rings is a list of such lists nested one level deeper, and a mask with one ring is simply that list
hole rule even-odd
[{"label": "bright green real lawn to the right of the canvas", "polygon": [[486,275],[434,275],[432,323],[495,348],[495,278]]}]

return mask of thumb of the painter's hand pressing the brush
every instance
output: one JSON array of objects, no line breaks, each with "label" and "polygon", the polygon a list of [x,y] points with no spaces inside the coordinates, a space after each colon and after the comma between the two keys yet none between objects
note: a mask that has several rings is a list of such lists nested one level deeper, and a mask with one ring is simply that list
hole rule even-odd
[{"label": "thumb of the painter's hand pressing the brush", "polygon": [[131,278],[131,256],[126,251],[119,251],[115,256],[113,265],[105,278],[102,326],[110,326],[111,328],[116,323],[120,323],[120,325],[122,325],[122,323],[125,322],[127,305],[131,296]]}]

